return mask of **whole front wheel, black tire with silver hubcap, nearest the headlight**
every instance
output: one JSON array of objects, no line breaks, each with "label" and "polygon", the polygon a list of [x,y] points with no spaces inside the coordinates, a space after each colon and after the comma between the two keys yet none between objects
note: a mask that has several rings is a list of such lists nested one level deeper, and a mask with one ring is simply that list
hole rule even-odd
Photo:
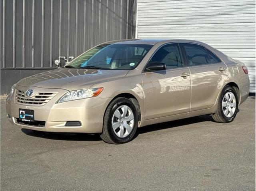
[{"label": "whole front wheel, black tire with silver hubcap, nearest the headlight", "polygon": [[100,135],[103,141],[121,144],[132,140],[138,127],[138,107],[135,104],[133,100],[118,97],[108,105]]}]

